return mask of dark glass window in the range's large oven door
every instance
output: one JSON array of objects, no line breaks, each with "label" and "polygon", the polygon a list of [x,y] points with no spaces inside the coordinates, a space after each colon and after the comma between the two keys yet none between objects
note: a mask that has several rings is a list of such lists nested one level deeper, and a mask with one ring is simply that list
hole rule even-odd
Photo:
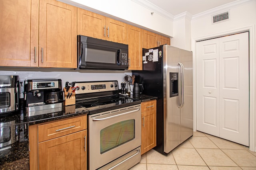
[{"label": "dark glass window in the range's large oven door", "polygon": [[107,152],[135,138],[135,120],[110,125],[100,131],[100,153]]}]

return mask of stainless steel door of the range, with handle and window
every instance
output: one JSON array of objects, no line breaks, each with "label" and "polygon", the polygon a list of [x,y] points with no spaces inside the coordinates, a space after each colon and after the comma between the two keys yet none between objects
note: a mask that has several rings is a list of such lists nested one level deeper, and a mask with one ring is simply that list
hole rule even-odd
[{"label": "stainless steel door of the range, with handle and window", "polygon": [[89,115],[88,136],[90,170],[140,147],[140,105]]}]

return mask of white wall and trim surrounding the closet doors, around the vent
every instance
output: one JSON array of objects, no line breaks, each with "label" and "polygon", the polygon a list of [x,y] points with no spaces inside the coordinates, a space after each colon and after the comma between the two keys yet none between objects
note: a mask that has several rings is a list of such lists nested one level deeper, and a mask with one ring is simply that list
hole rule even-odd
[{"label": "white wall and trim surrounding the closet doors, around the vent", "polygon": [[[217,24],[211,23],[211,15],[200,16],[192,19],[191,23],[191,39],[192,39],[192,51],[196,54],[195,41],[202,39],[209,39],[212,37],[219,37],[222,35],[228,35],[243,30],[249,30],[249,42],[250,42],[250,150],[256,151],[256,116],[255,116],[255,39],[256,39],[256,1],[248,1],[248,4],[230,8],[230,20],[220,22]],[[225,12],[225,11],[224,11]],[[195,63],[195,62],[194,62]],[[194,64],[194,66],[196,66]],[[195,72],[194,72],[194,75]],[[194,78],[194,82],[196,78]],[[194,86],[195,87],[195,86]],[[195,88],[194,88],[195,90]],[[195,96],[195,95],[194,95]],[[195,101],[195,100],[194,100]],[[196,113],[196,112],[195,112]],[[252,143],[254,139],[254,143]]]}]

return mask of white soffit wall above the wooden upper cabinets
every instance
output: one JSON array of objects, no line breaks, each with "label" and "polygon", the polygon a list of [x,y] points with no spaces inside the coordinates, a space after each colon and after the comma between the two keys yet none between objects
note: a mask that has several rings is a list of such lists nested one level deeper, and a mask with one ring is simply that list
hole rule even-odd
[{"label": "white soffit wall above the wooden upper cabinets", "polygon": [[[59,0],[61,2],[90,10],[92,12],[108,16],[114,19],[121,19],[124,22],[131,22],[132,25],[145,27],[158,33],[173,37],[173,22],[141,6],[132,0]],[[151,12],[154,12],[151,15]],[[117,18],[116,18],[117,17]]]}]

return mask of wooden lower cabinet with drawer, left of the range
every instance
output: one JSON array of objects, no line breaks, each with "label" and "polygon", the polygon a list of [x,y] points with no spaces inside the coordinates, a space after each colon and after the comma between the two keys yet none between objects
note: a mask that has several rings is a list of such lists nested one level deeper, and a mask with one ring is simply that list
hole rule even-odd
[{"label": "wooden lower cabinet with drawer, left of the range", "polygon": [[86,170],[87,115],[29,126],[29,147],[30,170]]}]

